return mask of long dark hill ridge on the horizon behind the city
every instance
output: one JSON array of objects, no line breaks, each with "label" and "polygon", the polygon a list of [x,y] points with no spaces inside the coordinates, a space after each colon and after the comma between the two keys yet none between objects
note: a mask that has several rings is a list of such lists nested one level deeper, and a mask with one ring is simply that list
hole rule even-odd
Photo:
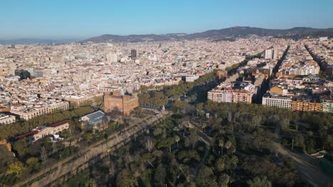
[{"label": "long dark hill ridge on the horizon behind the city", "polygon": [[83,42],[146,42],[165,40],[233,40],[248,35],[275,36],[278,38],[305,38],[307,36],[329,36],[333,37],[333,28],[306,28],[296,27],[290,29],[267,29],[254,27],[232,27],[220,30],[207,30],[202,33],[193,34],[166,34],[166,35],[100,35],[83,40]]}]

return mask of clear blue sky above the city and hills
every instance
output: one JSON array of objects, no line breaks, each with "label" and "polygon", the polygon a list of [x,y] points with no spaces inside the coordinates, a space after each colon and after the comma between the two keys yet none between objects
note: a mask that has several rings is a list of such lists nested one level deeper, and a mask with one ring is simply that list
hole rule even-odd
[{"label": "clear blue sky above the city and hills", "polygon": [[1,0],[0,39],[333,27],[333,0]]}]

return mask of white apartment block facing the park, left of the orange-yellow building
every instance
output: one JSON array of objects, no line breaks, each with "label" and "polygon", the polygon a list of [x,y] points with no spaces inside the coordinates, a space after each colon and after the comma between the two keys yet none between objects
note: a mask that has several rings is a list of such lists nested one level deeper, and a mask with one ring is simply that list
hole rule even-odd
[{"label": "white apartment block facing the park, left of the orange-yellow building", "polygon": [[275,108],[292,108],[292,97],[291,96],[280,96],[265,94],[263,96],[263,105],[272,106]]}]

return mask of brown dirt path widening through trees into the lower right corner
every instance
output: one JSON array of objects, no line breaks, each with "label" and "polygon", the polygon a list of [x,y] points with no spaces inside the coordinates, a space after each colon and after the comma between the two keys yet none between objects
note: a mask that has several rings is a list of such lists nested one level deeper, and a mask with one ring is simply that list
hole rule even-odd
[{"label": "brown dirt path widening through trees into the lower right corner", "polygon": [[329,177],[324,171],[322,171],[322,169],[320,169],[318,159],[311,157],[308,154],[290,152],[277,142],[273,142],[273,149],[275,149],[277,153],[294,160],[295,166],[298,171],[300,171],[303,181],[318,187],[333,185],[333,177]]}]

